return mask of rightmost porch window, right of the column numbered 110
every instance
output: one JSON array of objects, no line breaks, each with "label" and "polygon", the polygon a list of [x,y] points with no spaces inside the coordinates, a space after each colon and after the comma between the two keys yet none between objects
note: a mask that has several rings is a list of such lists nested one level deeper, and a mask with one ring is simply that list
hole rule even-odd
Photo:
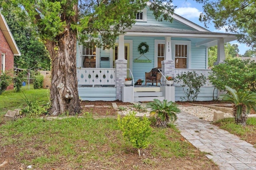
[{"label": "rightmost porch window, right of the column numbered 110", "polygon": [[187,68],[188,45],[175,45],[175,68]]}]

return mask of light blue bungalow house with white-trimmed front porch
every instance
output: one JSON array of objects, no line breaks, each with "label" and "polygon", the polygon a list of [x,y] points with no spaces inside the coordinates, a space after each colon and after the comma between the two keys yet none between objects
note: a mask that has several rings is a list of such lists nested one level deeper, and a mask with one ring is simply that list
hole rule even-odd
[{"label": "light blue bungalow house with white-trimmed front porch", "polygon": [[[208,76],[208,47],[218,45],[217,63],[225,59],[224,43],[236,40],[236,35],[216,33],[173,14],[172,23],[156,21],[148,8],[136,15],[136,24],[116,39],[114,49],[103,50],[77,45],[78,94],[81,100],[152,101],[154,98],[180,101],[185,96],[180,84],[165,84],[165,76],[176,76],[195,70]],[[145,45],[146,44],[146,45]],[[138,47],[148,52],[143,55]],[[161,68],[161,84],[125,86],[126,76],[133,81],[145,80],[145,72]],[[201,88],[197,100],[216,97],[210,82]]]}]

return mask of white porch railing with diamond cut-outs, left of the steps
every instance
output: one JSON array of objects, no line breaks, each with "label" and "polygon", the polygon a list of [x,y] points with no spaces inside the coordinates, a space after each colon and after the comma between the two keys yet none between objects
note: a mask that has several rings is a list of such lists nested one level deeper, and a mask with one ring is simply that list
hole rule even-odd
[{"label": "white porch railing with diamond cut-outs, left of the steps", "polygon": [[77,68],[78,86],[114,85],[116,86],[115,68]]}]

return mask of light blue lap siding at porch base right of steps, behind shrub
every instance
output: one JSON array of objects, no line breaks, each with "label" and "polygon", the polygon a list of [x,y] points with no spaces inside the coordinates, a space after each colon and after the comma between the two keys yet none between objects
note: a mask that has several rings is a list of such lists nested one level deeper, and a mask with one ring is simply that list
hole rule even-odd
[{"label": "light blue lap siding at porch base right of steps, behind shrub", "polygon": [[[184,90],[186,91],[186,88]],[[200,93],[198,94],[198,97],[197,97],[197,101],[213,100],[213,92],[214,92],[214,99],[216,99],[217,89],[214,90],[214,86],[201,87]],[[178,86],[175,87],[175,101],[182,101],[181,99],[182,97],[185,97],[186,99],[186,94],[183,92],[183,88]]]}]

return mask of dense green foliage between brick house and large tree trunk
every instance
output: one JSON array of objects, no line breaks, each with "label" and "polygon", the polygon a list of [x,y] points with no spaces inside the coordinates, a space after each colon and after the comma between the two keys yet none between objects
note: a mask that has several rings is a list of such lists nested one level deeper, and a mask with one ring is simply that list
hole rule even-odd
[{"label": "dense green foliage between brick house and large tree trunk", "polygon": [[18,68],[50,70],[50,58],[44,44],[35,35],[30,21],[26,18],[19,18],[17,11],[21,12],[21,9],[15,11],[14,8],[4,8],[1,11],[20,49],[21,56],[14,56],[14,63],[18,65]]}]

